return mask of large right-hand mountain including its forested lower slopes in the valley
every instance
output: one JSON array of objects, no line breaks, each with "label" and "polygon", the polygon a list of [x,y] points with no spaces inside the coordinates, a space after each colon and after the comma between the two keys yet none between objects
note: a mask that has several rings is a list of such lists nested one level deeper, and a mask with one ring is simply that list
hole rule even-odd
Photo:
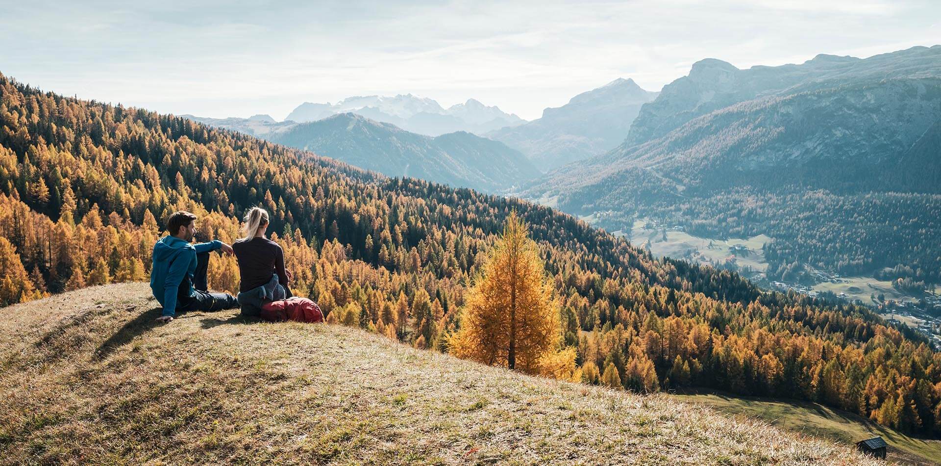
[{"label": "large right-hand mountain including its forested lower slopes in the valley", "polygon": [[522,196],[603,213],[612,231],[653,217],[708,237],[767,234],[775,280],[795,280],[782,272],[794,266],[898,265],[913,272],[888,279],[924,286],[941,282],[939,122],[941,46],[749,70],[702,60],[644,105],[620,147]]}]

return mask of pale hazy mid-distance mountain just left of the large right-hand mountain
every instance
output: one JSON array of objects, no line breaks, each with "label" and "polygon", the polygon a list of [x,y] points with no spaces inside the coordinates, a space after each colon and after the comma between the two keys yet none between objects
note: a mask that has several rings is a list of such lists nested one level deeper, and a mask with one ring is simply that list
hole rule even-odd
[{"label": "pale hazy mid-distance mountain just left of the large right-hand mountain", "polygon": [[555,169],[617,147],[641,106],[658,94],[632,79],[618,78],[572,97],[561,107],[546,108],[538,120],[485,136],[517,149],[543,169]]}]

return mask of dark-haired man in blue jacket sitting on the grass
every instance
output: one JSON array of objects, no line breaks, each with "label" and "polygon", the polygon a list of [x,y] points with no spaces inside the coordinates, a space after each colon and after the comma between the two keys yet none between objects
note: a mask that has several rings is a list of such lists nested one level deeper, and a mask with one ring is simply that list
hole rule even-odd
[{"label": "dark-haired man in blue jacket sitting on the grass", "polygon": [[177,312],[237,308],[238,301],[230,294],[206,291],[209,253],[222,249],[231,254],[231,246],[217,239],[190,244],[196,233],[196,216],[186,211],[169,217],[167,233],[153,245],[151,290],[164,307],[163,315],[157,320],[169,322]]}]

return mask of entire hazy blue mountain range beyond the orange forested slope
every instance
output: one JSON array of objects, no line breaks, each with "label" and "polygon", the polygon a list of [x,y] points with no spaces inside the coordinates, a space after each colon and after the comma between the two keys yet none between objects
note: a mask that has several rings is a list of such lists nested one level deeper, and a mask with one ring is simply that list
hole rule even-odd
[{"label": "entire hazy blue mountain range beyond the orange forested slope", "polygon": [[[412,95],[303,104],[289,119],[343,108],[359,120],[192,118],[390,176],[516,193],[612,231],[654,217],[709,237],[766,234],[769,278],[806,278],[789,271],[813,263],[852,275],[911,267],[880,280],[918,286],[941,280],[941,247],[923,239],[941,224],[919,215],[941,209],[939,46],[744,70],[706,58],[661,92],[616,79],[529,122],[473,100],[444,110]],[[499,142],[439,134],[461,127],[448,119]],[[483,132],[493,121],[502,127]],[[438,136],[407,131],[419,122]],[[791,220],[807,209],[827,214]],[[885,230],[892,223],[903,227]]]}]

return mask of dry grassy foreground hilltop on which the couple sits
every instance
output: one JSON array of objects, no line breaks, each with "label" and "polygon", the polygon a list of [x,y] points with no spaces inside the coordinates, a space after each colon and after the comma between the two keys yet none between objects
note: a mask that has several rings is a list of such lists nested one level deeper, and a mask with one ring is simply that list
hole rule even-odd
[{"label": "dry grassy foreground hilltop on which the couple sits", "polygon": [[359,329],[168,325],[144,283],[11,306],[0,463],[879,464],[671,400],[531,378]]}]

